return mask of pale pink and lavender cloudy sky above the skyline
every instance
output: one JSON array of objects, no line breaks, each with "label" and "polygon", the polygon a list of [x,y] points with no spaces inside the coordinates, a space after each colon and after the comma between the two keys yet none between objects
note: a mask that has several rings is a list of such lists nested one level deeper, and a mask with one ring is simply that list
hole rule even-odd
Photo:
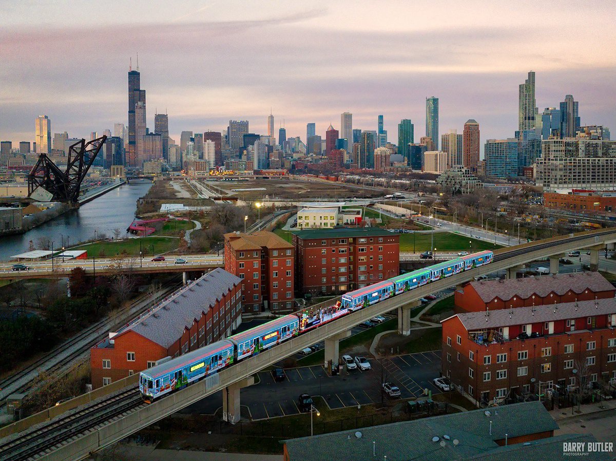
[{"label": "pale pink and lavender cloudy sky above the skyline", "polygon": [[[517,129],[518,86],[537,73],[540,112],[565,94],[582,124],[616,133],[616,2],[0,0],[0,139],[34,141],[34,119],[86,137],[128,124],[129,59],[139,54],[148,127],[167,112],[170,136],[249,120],[267,134],[325,136],[340,114],[389,141],[425,100],[440,99],[440,133],[479,122],[486,139]],[[276,133],[277,134],[277,133]]]}]

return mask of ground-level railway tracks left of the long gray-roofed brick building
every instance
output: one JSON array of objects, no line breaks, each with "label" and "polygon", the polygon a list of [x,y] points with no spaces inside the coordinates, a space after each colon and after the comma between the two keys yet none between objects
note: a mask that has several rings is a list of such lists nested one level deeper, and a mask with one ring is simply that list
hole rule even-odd
[{"label": "ground-level railway tracks left of the long gray-roofed brick building", "polygon": [[[172,284],[165,288],[158,297],[164,298],[164,296],[169,295],[169,293],[177,290],[180,286],[181,283]],[[147,294],[140,296],[137,300],[124,308],[122,311],[123,317],[132,318],[139,315],[141,312],[147,311],[150,307],[149,303],[139,308],[139,305],[147,300],[147,296]],[[79,356],[89,351],[89,349],[100,340],[101,333],[107,332],[114,324],[115,322],[105,317],[105,319],[99,320],[94,325],[84,328],[75,337],[70,338],[70,340],[56,346],[23,370],[20,370],[6,380],[0,381],[0,402],[4,401],[4,399],[14,392],[23,393],[30,390],[32,387],[31,380],[34,377],[32,374],[36,373],[39,369],[44,369],[47,372],[66,372],[68,365]],[[78,345],[79,343],[81,343],[81,345],[67,353],[68,349],[71,349],[73,345]],[[47,366],[49,364],[52,365]]]}]

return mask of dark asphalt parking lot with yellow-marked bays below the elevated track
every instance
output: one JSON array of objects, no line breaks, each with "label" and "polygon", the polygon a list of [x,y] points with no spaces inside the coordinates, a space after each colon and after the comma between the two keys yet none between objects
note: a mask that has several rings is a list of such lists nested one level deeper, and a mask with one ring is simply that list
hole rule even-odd
[{"label": "dark asphalt parking lot with yellow-marked bays below the elevated track", "polygon": [[[285,370],[285,381],[275,382],[271,372],[260,372],[260,382],[241,390],[242,417],[261,420],[299,414],[299,394],[322,396],[330,409],[352,407],[381,401],[381,371],[376,359],[368,358],[371,370],[342,370],[328,377],[320,365]],[[440,351],[405,354],[381,359],[386,381],[400,388],[400,398],[418,397],[424,388],[433,394],[440,390],[432,384],[439,377]],[[320,400],[316,401],[317,407]],[[222,406],[222,393],[197,402],[182,413],[214,414]]]}]

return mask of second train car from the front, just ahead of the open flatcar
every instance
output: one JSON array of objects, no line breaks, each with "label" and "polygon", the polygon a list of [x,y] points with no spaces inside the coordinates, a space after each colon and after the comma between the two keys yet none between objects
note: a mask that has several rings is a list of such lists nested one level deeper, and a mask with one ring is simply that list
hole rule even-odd
[{"label": "second train car from the front, just ahead of the open flatcar", "polygon": [[299,333],[299,318],[292,314],[270,320],[266,324],[250,328],[245,332],[237,333],[229,340],[236,345],[237,355],[235,359],[240,361],[253,354],[258,354],[264,349],[292,338]]}]

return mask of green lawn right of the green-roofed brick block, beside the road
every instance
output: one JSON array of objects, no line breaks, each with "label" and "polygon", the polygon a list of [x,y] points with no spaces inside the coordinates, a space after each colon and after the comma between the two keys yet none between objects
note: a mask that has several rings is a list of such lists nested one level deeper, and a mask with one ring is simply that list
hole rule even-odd
[{"label": "green lawn right of the green-roofed brick block, beside the road", "polygon": [[479,250],[496,250],[496,248],[501,248],[501,245],[494,245],[494,243],[471,239],[451,232],[434,232],[434,243],[432,243],[431,232],[426,234],[400,234],[400,251],[418,253],[419,251],[430,250],[431,247],[432,250],[436,248],[438,257],[439,251],[466,250],[470,253]]}]

